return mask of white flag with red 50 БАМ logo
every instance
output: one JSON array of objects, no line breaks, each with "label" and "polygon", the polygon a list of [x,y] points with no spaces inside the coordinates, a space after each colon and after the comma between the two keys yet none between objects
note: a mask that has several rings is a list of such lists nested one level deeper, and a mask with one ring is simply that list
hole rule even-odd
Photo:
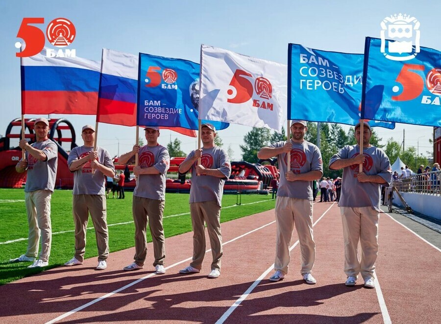
[{"label": "white flag with red 50 \u0411\u0410\u041c logo", "polygon": [[199,118],[278,132],[287,113],[287,66],[201,45]]}]

